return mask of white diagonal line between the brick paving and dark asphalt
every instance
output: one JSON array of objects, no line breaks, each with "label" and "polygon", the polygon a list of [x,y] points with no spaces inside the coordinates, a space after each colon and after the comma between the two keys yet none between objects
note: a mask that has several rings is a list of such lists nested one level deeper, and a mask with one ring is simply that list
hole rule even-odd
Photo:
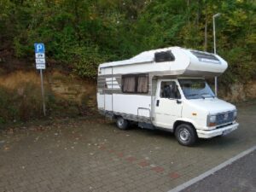
[{"label": "white diagonal line between the brick paving and dark asphalt", "polygon": [[232,164],[234,161],[241,159],[241,157],[250,154],[251,152],[253,152],[256,149],[256,145],[254,145],[252,148],[248,148],[247,150],[241,152],[241,154],[237,154],[235,157],[230,158],[230,160],[226,160],[224,161],[224,163],[219,164],[218,166],[213,167],[212,169],[210,169],[207,172],[202,173],[200,176],[192,178],[191,180],[189,180],[186,183],[182,183],[180,185],[178,185],[176,188],[169,190],[168,192],[178,192],[181,191],[183,189],[188,188],[190,185],[197,183],[199,181],[201,181],[202,179],[204,179],[205,177],[208,177],[209,175],[211,175],[214,172],[217,172],[218,170],[224,168],[225,166],[229,166],[230,164]]}]

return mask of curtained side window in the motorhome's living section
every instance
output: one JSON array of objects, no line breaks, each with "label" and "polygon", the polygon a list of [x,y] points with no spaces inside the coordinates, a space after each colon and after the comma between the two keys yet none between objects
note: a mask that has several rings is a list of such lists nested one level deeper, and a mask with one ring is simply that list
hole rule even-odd
[{"label": "curtained side window in the motorhome's living section", "polygon": [[124,93],[148,93],[148,75],[124,75],[122,85]]}]

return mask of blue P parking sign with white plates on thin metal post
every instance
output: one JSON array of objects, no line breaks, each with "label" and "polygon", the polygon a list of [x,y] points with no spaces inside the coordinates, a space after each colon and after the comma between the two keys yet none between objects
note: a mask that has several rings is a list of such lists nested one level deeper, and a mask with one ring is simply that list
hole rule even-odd
[{"label": "blue P parking sign with white plates on thin metal post", "polygon": [[34,46],[35,46],[35,56],[36,56],[36,68],[40,70],[44,116],[46,116],[45,102],[44,102],[44,76],[43,76],[43,69],[45,69],[44,44],[34,44]]}]

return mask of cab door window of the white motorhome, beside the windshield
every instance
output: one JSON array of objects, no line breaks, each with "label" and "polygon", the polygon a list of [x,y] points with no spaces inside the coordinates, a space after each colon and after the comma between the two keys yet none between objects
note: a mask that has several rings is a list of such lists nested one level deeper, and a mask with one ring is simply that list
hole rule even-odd
[{"label": "cab door window of the white motorhome, beside the windshield", "polygon": [[162,98],[171,98],[171,99],[180,99],[180,93],[177,89],[177,84],[175,81],[162,81],[160,97]]}]

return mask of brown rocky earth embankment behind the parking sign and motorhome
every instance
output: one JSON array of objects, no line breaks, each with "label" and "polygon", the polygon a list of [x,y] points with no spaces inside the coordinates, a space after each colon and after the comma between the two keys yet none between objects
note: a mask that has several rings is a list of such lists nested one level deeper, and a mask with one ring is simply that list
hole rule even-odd
[{"label": "brown rocky earth embankment behind the parking sign and motorhome", "polygon": [[[96,113],[96,82],[77,79],[61,71],[44,73],[48,116]],[[256,81],[219,87],[218,97],[229,102],[256,98]],[[0,124],[42,117],[40,75],[36,70],[16,70],[0,75]]]}]

